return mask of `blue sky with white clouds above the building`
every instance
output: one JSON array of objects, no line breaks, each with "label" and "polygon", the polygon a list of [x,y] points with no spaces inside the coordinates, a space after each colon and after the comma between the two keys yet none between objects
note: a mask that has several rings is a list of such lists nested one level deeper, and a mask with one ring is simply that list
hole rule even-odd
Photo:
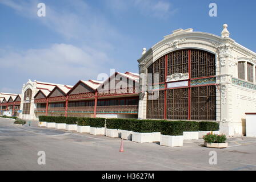
[{"label": "blue sky with white clouds above the building", "polygon": [[142,48],[178,28],[221,35],[227,23],[256,52],[255,12],[254,0],[0,0],[0,92],[21,93],[29,79],[75,85],[110,69],[138,73]]}]

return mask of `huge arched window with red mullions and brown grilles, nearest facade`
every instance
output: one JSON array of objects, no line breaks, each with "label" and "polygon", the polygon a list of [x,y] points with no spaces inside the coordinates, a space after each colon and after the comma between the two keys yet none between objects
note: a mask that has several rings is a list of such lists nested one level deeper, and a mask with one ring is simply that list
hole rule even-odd
[{"label": "huge arched window with red mullions and brown grilles, nearest facade", "polygon": [[[154,61],[147,73],[147,118],[216,120],[213,53],[199,49],[170,52]],[[179,80],[174,78],[177,75],[185,76]]]}]

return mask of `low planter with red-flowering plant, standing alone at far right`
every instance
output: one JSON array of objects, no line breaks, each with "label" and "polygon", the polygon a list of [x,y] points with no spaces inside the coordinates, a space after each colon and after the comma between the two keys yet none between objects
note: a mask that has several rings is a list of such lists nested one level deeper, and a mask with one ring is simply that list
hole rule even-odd
[{"label": "low planter with red-flowering plant, standing alone at far right", "polygon": [[226,148],[228,146],[226,142],[226,135],[217,135],[213,133],[207,133],[203,136],[205,140],[205,146],[210,148]]}]

